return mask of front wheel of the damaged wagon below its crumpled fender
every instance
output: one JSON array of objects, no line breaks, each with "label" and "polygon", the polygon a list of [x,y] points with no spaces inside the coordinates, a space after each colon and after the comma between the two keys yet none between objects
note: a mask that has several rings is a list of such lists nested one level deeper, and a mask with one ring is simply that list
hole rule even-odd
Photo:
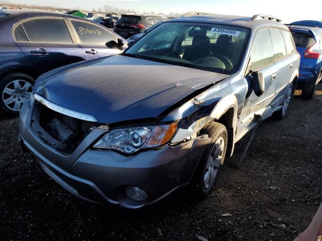
[{"label": "front wheel of the damaged wagon below its crumpled fender", "polygon": [[[193,197],[197,200],[204,199],[213,189],[227,149],[228,135],[224,125],[212,122],[200,131],[200,135],[205,134],[211,141],[200,159],[190,185]],[[213,159],[215,156],[218,158]]]}]

